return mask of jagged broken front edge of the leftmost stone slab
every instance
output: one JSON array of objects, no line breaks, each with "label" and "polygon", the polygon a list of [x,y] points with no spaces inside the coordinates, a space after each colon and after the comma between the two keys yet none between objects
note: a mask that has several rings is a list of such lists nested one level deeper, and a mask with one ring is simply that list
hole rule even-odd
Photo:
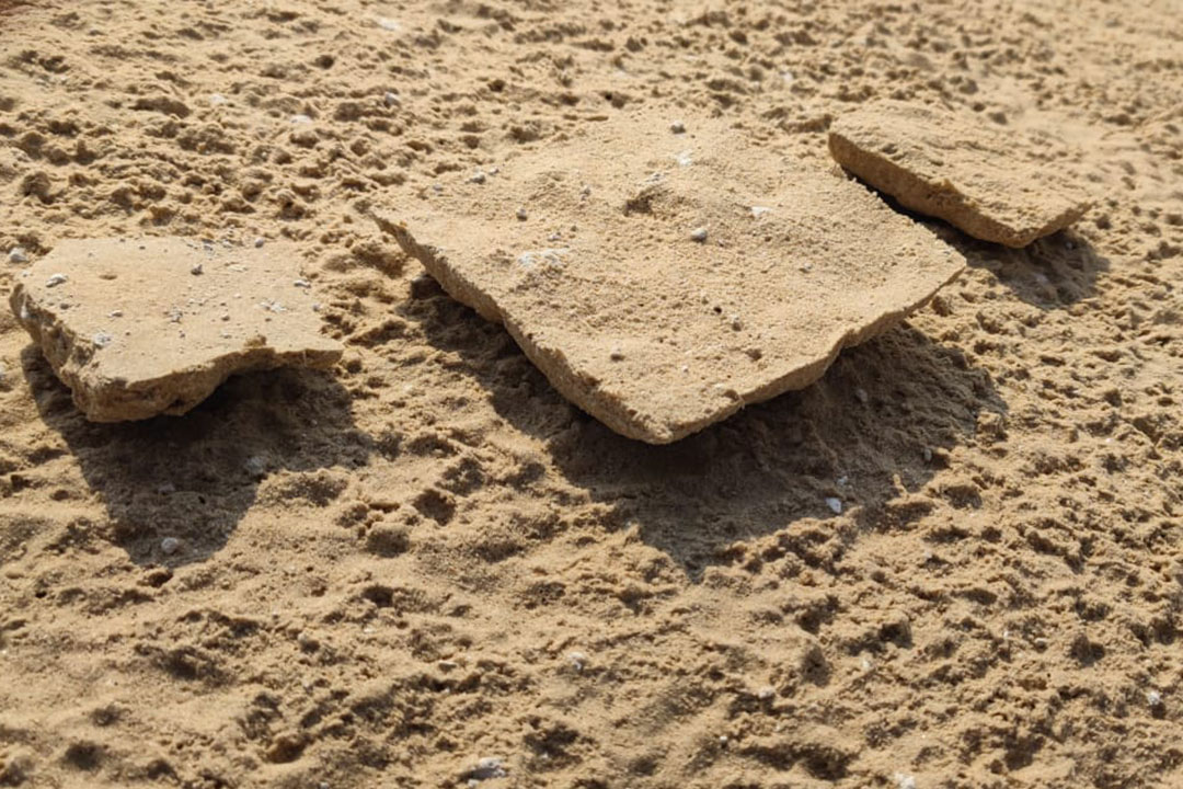
[{"label": "jagged broken front edge of the leftmost stone slab", "polygon": [[[209,364],[168,376],[174,381],[169,384],[169,390],[180,392],[182,396],[177,397],[176,394],[166,396],[160,390],[161,381],[164,379],[140,381],[135,386],[128,386],[119,379],[84,383],[79,370],[95,353],[93,343],[65,331],[52,313],[34,312],[22,283],[17,283],[8,297],[8,304],[17,321],[49,362],[53,374],[70,389],[75,406],[92,422],[136,421],[161,414],[181,416],[200,405],[233,375],[289,367],[297,357],[302,367],[328,369],[344,354],[343,347],[311,353],[280,353],[270,345],[260,345],[232,351],[211,361]],[[92,390],[97,396],[88,397],[88,390]],[[99,402],[105,405],[101,407]]]}]

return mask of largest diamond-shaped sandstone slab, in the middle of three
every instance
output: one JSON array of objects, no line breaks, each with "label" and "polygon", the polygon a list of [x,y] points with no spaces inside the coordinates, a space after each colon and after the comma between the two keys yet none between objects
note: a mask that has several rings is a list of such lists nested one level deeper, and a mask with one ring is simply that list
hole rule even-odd
[{"label": "largest diamond-shaped sandstone slab, in the middle of three", "polygon": [[374,216],[563,395],[651,444],[812,383],[964,266],[854,181],[686,128],[595,123]]}]

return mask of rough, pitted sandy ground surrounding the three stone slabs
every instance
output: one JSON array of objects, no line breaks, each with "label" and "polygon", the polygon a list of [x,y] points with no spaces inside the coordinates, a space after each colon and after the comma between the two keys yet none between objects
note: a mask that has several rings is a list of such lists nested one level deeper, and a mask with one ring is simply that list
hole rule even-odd
[{"label": "rough, pitted sandy ground surrounding the three stone slabs", "polygon": [[[286,238],[348,347],[98,426],[0,316],[0,784],[1183,785],[1181,13],[0,1],[0,290]],[[1097,206],[932,222],[929,308],[667,447],[362,216],[636,108],[825,166],[881,96],[1046,134]]]}]

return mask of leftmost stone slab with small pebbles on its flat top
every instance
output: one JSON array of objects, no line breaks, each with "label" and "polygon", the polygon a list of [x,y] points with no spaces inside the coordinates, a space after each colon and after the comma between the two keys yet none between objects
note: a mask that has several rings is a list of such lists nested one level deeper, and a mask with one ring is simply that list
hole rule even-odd
[{"label": "leftmost stone slab with small pebbles on its flat top", "polygon": [[88,419],[183,414],[235,373],[341,358],[298,261],[287,244],[65,240],[9,300]]}]

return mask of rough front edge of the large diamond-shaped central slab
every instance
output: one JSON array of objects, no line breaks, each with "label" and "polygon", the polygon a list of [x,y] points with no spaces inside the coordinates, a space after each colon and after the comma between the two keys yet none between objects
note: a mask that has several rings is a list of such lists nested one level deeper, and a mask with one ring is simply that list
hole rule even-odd
[{"label": "rough front edge of the large diamond-shaped central slab", "polygon": [[[424,267],[427,269],[428,273],[431,273],[432,277],[440,283],[440,286],[442,286],[452,298],[474,309],[481,317],[504,325],[525,353],[526,357],[543,371],[550,383],[558,389],[564,397],[574,402],[592,416],[595,416],[616,433],[620,433],[626,438],[645,441],[646,444],[658,445],[672,444],[684,439],[692,433],[697,433],[705,427],[709,427],[710,425],[728,419],[745,406],[770,400],[784,394],[786,392],[803,389],[810,383],[814,383],[822,375],[825,375],[826,370],[834,363],[834,360],[838,358],[838,355],[842,351],[842,349],[858,345],[861,342],[883,334],[900,321],[905,319],[909,315],[924,306],[938,290],[956,279],[965,267],[964,263],[963,265],[957,266],[957,269],[950,273],[948,278],[942,280],[939,284],[933,285],[923,297],[916,299],[912,304],[905,305],[900,310],[883,315],[878,319],[872,321],[864,326],[855,328],[834,337],[829,343],[829,351],[819,356],[819,358],[814,362],[775,379],[755,392],[748,393],[746,395],[737,395],[731,406],[720,408],[709,416],[671,425],[668,422],[661,422],[660,420],[648,415],[629,415],[626,412],[626,407],[619,399],[612,396],[610,394],[599,392],[596,388],[583,382],[582,377],[574,369],[571,369],[570,363],[563,354],[555,350],[543,349],[534,343],[530,335],[524,332],[521,326],[516,325],[509,316],[499,310],[493,299],[480,293],[479,289],[473,285],[473,283],[453,271],[447,265],[447,260],[441,254],[439,248],[416,241],[412,232],[403,222],[392,220],[389,216],[382,215],[379,212],[371,213],[371,216],[383,232],[394,235],[403,252],[418,259]],[[936,237],[933,237],[933,240],[939,242],[939,239],[936,239]],[[961,256],[958,254],[957,257],[959,258]],[[547,369],[539,363],[541,360],[545,360],[550,363],[555,371],[547,371]],[[642,426],[639,426],[638,422],[641,422]]]}]

